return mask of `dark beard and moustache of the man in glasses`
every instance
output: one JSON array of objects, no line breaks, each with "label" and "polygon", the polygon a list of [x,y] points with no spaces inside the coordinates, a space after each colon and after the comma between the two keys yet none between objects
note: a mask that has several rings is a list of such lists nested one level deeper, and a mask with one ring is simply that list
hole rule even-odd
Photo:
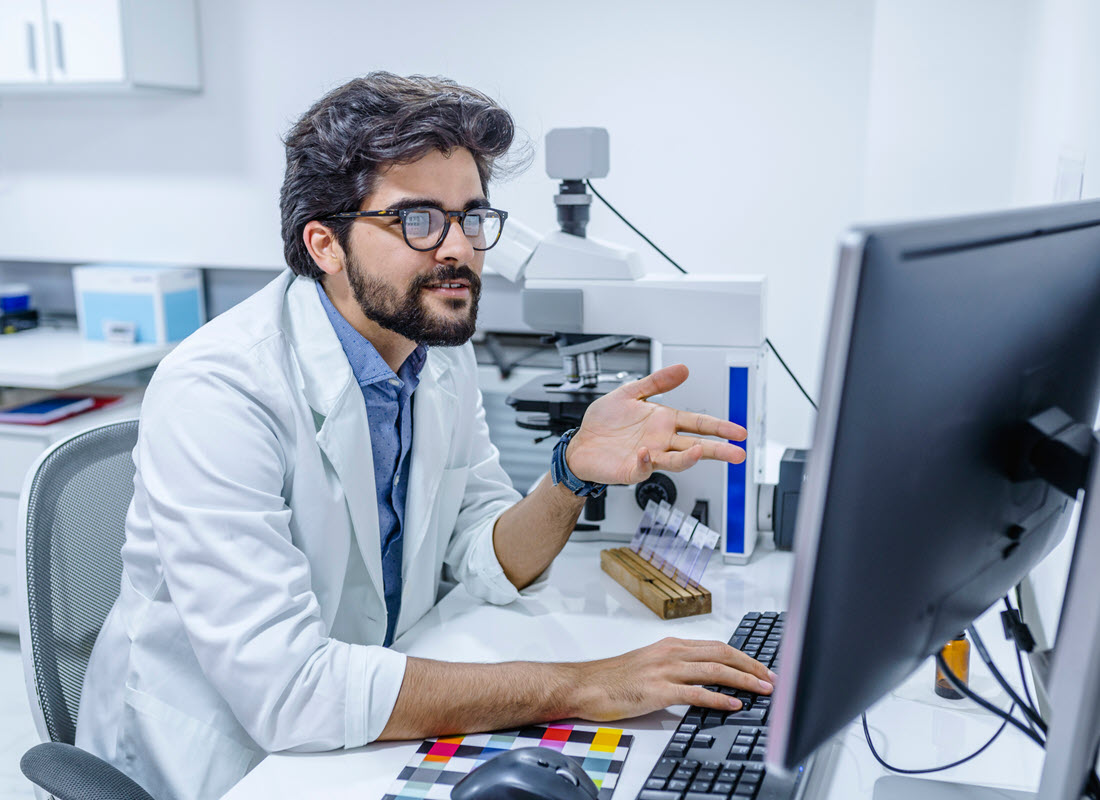
[{"label": "dark beard and moustache of the man in glasses", "polygon": [[[469,266],[438,265],[431,274],[414,277],[404,295],[381,278],[367,275],[351,252],[346,266],[348,283],[359,307],[367,319],[386,330],[429,347],[458,347],[474,335],[481,278]],[[463,315],[439,317],[428,308],[428,298],[421,296],[424,288],[459,278],[470,283],[470,299],[449,298],[444,304],[454,311],[461,311],[463,306],[469,308]]]}]

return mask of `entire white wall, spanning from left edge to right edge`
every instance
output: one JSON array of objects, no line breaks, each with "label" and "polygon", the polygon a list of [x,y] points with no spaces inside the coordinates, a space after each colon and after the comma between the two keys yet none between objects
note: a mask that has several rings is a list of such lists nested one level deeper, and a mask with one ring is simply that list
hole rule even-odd
[{"label": "entire white wall, spanning from left edge to right edge", "polygon": [[[0,260],[276,266],[296,117],[371,69],[443,74],[536,145],[494,200],[537,231],[554,227],[544,132],[608,128],[602,190],[686,269],[766,274],[769,336],[815,394],[845,227],[1048,201],[1063,152],[1100,152],[1092,0],[411,8],[199,0],[201,95],[0,97]],[[712,235],[682,232],[689,205]],[[671,269],[598,205],[590,232]],[[807,443],[774,362],[768,392],[770,436]]]}]

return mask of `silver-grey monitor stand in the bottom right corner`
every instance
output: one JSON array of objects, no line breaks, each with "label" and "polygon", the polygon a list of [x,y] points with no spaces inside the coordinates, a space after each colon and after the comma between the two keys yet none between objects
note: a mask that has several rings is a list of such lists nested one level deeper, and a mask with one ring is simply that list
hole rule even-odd
[{"label": "silver-grey monitor stand in the bottom right corner", "polygon": [[[1062,603],[1050,681],[1049,734],[1038,794],[888,775],[875,800],[1080,800],[1100,744],[1100,431],[1090,434],[1091,459],[1077,524],[1074,559]],[[1008,733],[1008,732],[1007,732]]]}]

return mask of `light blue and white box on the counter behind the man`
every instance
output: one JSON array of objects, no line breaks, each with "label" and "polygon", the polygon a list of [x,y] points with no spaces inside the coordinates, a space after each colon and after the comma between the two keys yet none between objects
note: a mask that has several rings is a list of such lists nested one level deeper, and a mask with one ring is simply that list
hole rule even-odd
[{"label": "light blue and white box on the counter behind the man", "polygon": [[202,272],[194,267],[73,267],[80,332],[91,341],[167,344],[206,321]]}]

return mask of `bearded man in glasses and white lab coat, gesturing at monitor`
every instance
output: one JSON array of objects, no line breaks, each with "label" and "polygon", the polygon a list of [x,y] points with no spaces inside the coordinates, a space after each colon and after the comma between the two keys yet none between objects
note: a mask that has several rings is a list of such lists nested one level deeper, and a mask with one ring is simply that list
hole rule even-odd
[{"label": "bearded man in glasses and white lab coat, gesturing at monitor", "polygon": [[[649,403],[670,366],[594,403],[520,498],[488,440],[473,349],[505,215],[488,179],[510,117],[446,80],[376,73],[287,138],[289,271],[168,355],[148,386],[121,595],[77,744],[158,800],[224,792],[272,750],[486,731],[768,692],[722,643],[587,664],[447,664],[393,639],[444,570],[507,603],[569,539],[592,484],[701,458],[745,430]],[[712,438],[714,437],[714,438]],[[492,635],[488,632],[488,635]]]}]

